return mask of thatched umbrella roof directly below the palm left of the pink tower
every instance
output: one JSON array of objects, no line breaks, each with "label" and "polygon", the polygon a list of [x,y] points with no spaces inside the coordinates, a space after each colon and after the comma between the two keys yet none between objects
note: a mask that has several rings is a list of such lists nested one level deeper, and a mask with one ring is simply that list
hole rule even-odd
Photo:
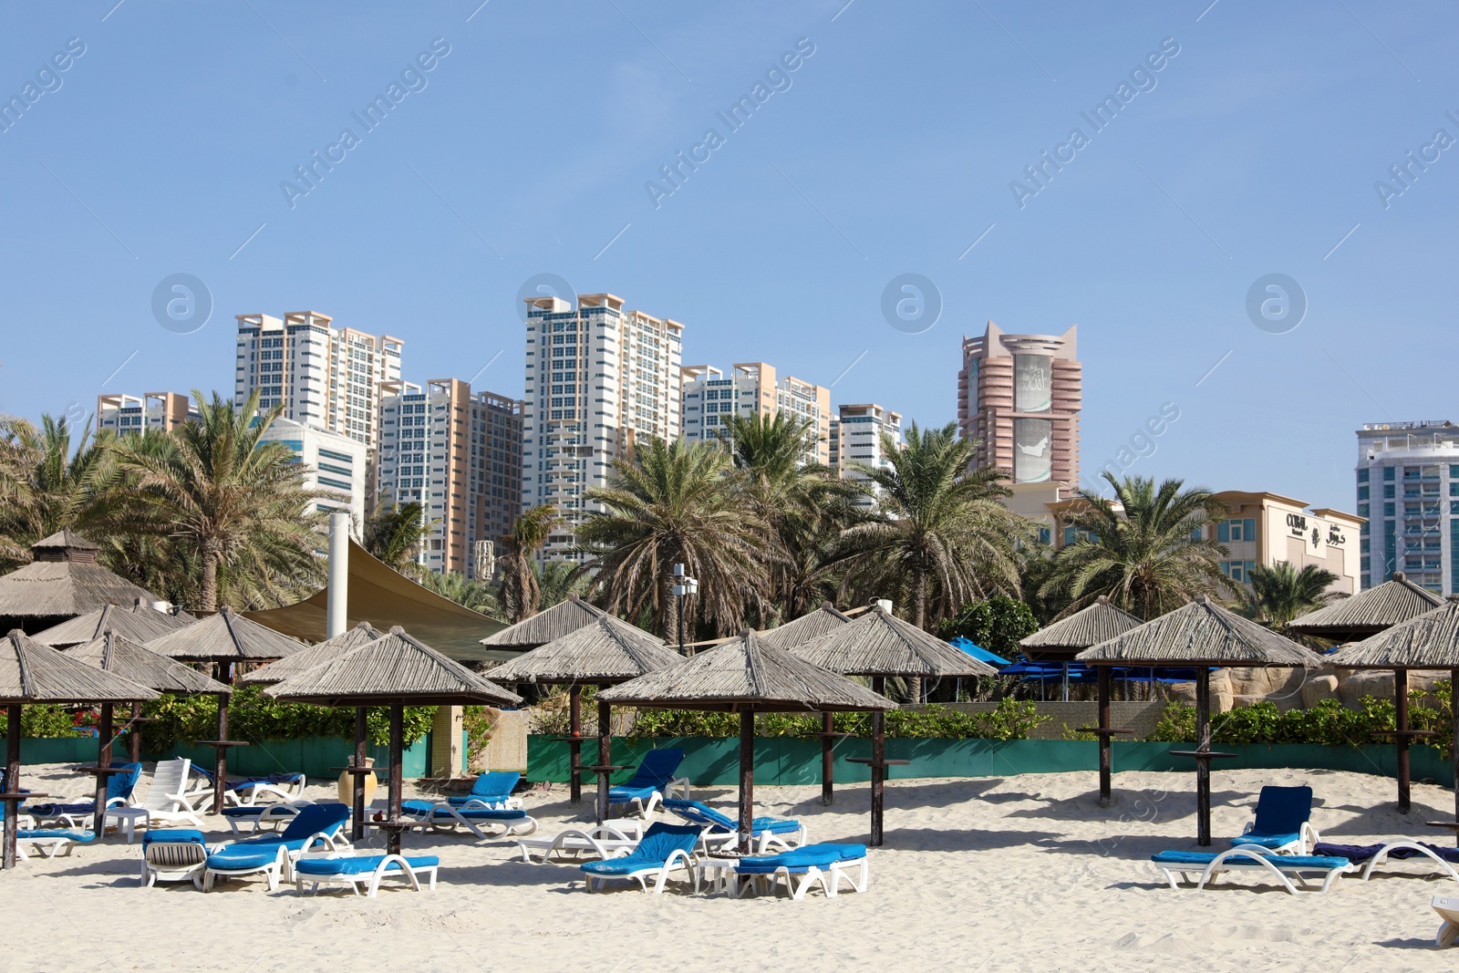
[{"label": "thatched umbrella roof directly below the palm left of the pink tower", "polygon": [[996,675],[998,670],[956,649],[881,605],[849,624],[791,649],[795,658],[843,675],[943,678]]}]

